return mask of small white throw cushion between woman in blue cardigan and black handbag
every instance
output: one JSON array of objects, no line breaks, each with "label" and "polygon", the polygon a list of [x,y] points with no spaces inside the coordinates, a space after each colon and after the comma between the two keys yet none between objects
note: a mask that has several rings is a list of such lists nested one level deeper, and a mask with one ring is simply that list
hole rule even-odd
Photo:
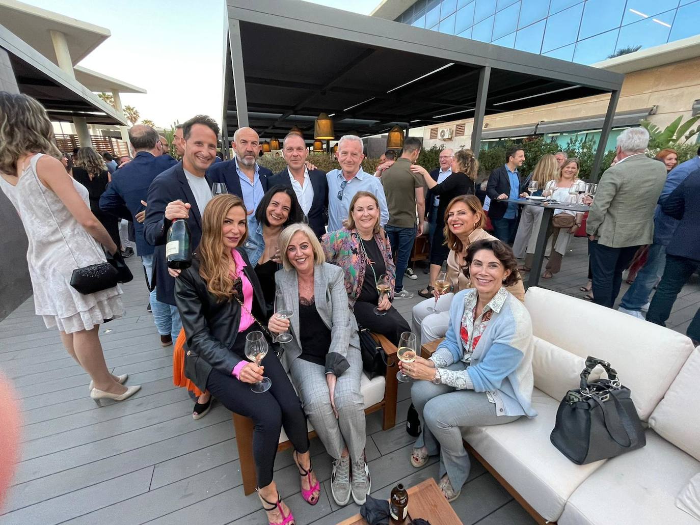
[{"label": "small white throw cushion between woman in blue cardigan and black handbag", "polygon": [[[535,351],[532,356],[532,371],[535,386],[552,398],[561,400],[568,391],[580,385],[586,360],[545,339],[533,339]],[[588,377],[589,381],[599,379],[601,372],[602,367],[595,367]]]}]

